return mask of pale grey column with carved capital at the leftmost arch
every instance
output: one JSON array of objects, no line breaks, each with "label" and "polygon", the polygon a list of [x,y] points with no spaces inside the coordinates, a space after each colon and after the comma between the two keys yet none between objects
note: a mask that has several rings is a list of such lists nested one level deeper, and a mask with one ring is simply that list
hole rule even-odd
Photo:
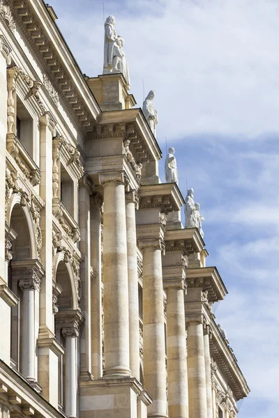
[{"label": "pale grey column with carved capital at the leftmost arch", "polygon": [[[19,277],[18,284],[23,293],[21,371],[29,382],[35,383],[37,380],[35,372],[35,292],[40,291],[42,275],[38,274],[36,268],[24,267],[22,265],[17,265],[17,263],[20,262],[13,263],[13,275],[15,274],[15,276]],[[17,265],[17,268],[15,268],[15,265]]]}]

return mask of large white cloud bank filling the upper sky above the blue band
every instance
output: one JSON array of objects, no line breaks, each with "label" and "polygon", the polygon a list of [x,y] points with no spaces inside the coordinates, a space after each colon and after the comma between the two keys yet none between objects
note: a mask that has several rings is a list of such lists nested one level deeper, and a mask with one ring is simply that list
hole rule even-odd
[{"label": "large white cloud bank filling the upper sky above the blue band", "polygon": [[[60,3],[58,24],[77,61],[96,76],[103,65],[103,4],[81,8],[79,2],[78,21],[69,6],[52,3]],[[105,3],[108,14],[116,15],[126,39],[138,104],[142,79],[145,93],[157,92],[159,139],[279,133],[277,1],[128,0]]]}]

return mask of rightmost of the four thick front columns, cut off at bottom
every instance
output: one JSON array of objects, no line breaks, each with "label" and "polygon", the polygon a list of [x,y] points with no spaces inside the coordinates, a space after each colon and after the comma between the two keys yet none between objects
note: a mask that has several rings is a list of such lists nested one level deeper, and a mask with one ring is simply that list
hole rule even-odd
[{"label": "rightmost of the four thick front columns, cut off at bottom", "polygon": [[189,418],[206,418],[206,376],[202,316],[186,317]]}]

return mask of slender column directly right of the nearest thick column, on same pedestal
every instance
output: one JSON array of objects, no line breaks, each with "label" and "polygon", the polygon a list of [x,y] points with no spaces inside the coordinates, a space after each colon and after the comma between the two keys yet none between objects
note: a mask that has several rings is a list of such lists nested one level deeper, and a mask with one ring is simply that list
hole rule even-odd
[{"label": "slender column directly right of the nearest thick column, on same pedestal", "polygon": [[135,209],[138,197],[135,190],[126,193],[126,228],[129,290],[130,370],[140,381],[139,292],[137,283],[137,233]]}]

